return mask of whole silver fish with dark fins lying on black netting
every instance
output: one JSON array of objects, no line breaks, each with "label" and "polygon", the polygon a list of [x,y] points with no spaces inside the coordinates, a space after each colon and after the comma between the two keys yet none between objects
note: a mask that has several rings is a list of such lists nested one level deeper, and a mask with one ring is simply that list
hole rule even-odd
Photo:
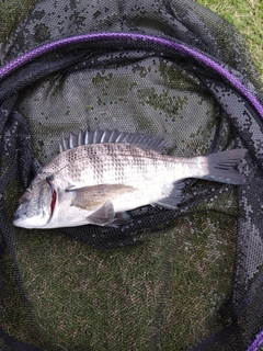
[{"label": "whole silver fish with dark fins lying on black netting", "polygon": [[152,205],[178,210],[187,178],[243,184],[247,149],[175,157],[161,137],[114,131],[80,131],[61,138],[59,154],[21,196],[13,225],[50,229],[129,223],[129,211]]}]

